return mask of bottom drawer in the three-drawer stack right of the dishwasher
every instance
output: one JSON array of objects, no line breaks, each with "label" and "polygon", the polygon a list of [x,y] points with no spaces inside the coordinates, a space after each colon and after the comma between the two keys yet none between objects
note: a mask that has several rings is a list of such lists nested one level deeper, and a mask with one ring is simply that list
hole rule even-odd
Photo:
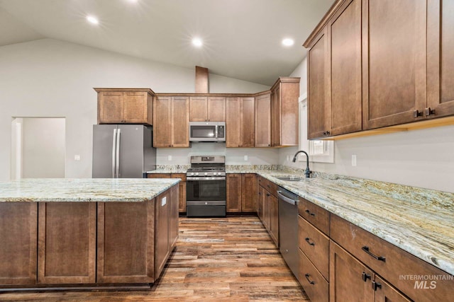
[{"label": "bottom drawer in the three-drawer stack right of the dishwasher", "polygon": [[328,302],[329,286],[323,276],[317,271],[306,255],[299,253],[299,283],[303,286],[311,302]]}]

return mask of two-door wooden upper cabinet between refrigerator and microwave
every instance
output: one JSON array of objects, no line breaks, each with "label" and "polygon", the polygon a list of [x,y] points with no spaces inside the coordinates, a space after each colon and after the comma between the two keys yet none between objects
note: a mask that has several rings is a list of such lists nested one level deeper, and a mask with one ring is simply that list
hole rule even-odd
[{"label": "two-door wooden upper cabinet between refrigerator and microwave", "polygon": [[189,147],[189,98],[159,96],[154,102],[155,148]]}]

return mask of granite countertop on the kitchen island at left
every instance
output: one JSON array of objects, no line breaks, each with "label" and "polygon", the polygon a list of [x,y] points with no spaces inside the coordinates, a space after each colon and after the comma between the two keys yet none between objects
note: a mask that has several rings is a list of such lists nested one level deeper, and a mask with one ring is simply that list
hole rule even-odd
[{"label": "granite countertop on the kitchen island at left", "polygon": [[25,178],[0,182],[0,202],[144,202],[179,179]]}]

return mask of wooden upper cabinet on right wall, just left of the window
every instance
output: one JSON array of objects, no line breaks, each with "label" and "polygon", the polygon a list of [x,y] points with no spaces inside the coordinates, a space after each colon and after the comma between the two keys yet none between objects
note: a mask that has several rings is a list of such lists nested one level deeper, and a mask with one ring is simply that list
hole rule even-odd
[{"label": "wooden upper cabinet on right wall, just left of the window", "polygon": [[271,94],[272,146],[298,146],[299,78],[280,77]]}]

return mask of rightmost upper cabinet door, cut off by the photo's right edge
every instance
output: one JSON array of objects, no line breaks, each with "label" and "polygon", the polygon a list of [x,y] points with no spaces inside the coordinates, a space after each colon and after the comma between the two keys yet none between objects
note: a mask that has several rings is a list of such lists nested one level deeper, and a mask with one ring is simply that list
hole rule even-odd
[{"label": "rightmost upper cabinet door, cut off by the photo's right edge", "polygon": [[429,117],[454,115],[454,1],[428,2],[427,105]]}]

